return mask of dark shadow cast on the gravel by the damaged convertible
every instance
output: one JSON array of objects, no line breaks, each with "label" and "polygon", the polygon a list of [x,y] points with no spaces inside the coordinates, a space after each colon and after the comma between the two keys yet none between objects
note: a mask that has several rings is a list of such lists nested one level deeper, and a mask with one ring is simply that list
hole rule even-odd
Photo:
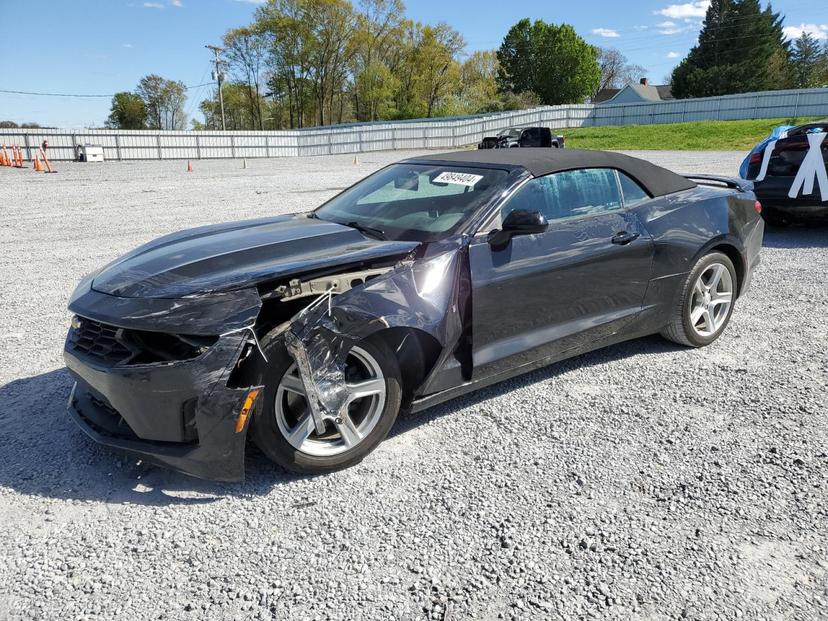
[{"label": "dark shadow cast on the gravel by the damaged convertible", "polygon": [[[640,354],[678,348],[660,337],[614,345],[553,364],[459,397],[425,412],[402,416],[391,435],[437,417],[568,371]],[[72,381],[65,369],[15,380],[0,387],[0,487],[20,494],[108,504],[197,505],[227,496],[259,496],[306,477],[274,466],[248,445],[246,480],[215,483],[147,464],[98,446],[66,414]],[[301,505],[302,503],[300,503]],[[299,506],[299,505],[297,505]]]}]

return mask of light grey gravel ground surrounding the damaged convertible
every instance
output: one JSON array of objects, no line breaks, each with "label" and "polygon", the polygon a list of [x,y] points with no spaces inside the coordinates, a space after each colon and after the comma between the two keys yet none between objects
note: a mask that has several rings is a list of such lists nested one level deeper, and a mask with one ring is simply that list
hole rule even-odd
[{"label": "light grey gravel ground surrounding the damaged convertible", "polygon": [[768,232],[714,345],[556,364],[403,418],[345,472],[250,451],[245,483],[213,484],[75,428],[61,349],[83,274],[403,155],[0,169],[0,619],[826,618],[826,228]]}]

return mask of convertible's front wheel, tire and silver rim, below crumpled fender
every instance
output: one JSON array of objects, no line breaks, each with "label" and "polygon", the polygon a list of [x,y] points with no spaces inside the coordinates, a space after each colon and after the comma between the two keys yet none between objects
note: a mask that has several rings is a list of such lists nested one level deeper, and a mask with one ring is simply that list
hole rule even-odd
[{"label": "convertible's front wheel, tire and silver rim, below crumpled fender", "polygon": [[273,349],[252,429],[253,440],[270,459],[295,472],[331,472],[359,463],[388,435],[402,391],[397,360],[382,342],[365,340],[348,353],[350,403],[341,416],[326,419],[322,433],[311,417],[296,363],[281,340]]}]

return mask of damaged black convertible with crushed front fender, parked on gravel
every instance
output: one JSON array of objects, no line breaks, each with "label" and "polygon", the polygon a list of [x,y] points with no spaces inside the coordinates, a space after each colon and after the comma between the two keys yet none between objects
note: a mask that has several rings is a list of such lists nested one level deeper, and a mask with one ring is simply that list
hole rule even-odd
[{"label": "damaged black convertible with crushed front fender, parked on gravel", "polygon": [[417,411],[599,347],[703,346],[759,261],[750,183],[598,151],[410,159],[311,213],[150,242],[72,295],[69,412],[101,444],[244,476],[359,462]]}]

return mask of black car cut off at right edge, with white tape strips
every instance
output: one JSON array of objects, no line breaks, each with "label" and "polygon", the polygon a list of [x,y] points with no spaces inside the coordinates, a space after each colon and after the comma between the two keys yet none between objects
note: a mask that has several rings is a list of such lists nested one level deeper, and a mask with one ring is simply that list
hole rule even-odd
[{"label": "black car cut off at right edge, with white tape strips", "polygon": [[742,163],[770,224],[828,220],[828,119],[783,126]]}]

